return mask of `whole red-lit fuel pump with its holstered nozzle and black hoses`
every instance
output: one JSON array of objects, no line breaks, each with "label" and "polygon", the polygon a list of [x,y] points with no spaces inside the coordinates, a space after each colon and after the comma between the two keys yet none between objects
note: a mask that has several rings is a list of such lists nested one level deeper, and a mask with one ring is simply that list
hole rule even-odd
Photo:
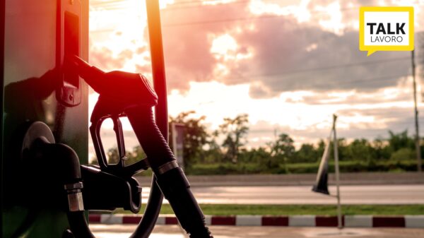
[{"label": "whole red-lit fuel pump with its holstered nozzle and black hoses", "polygon": [[[147,0],[146,5],[155,90],[139,74],[105,73],[80,59],[88,59],[88,1],[0,4],[2,237],[93,237],[86,211],[139,212],[142,188],[133,175],[149,167],[155,174],[151,194],[131,237],[149,236],[162,194],[191,237],[211,237],[165,139],[166,82],[158,1]],[[99,167],[84,165],[88,87],[81,78],[100,93],[90,119]],[[129,118],[146,160],[124,165],[120,117]],[[121,157],[117,165],[107,164],[100,140],[100,126],[107,118],[117,133]]]}]

